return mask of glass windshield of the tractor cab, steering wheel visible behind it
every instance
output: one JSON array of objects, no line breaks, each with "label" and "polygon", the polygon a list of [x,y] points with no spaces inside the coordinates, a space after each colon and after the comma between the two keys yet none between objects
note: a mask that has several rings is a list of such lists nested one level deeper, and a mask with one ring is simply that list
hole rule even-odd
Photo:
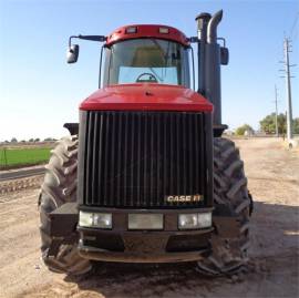
[{"label": "glass windshield of the tractor cab, steering wheel visible behind it", "polygon": [[106,48],[104,84],[126,83],[189,88],[187,48],[159,39],[126,40]]}]

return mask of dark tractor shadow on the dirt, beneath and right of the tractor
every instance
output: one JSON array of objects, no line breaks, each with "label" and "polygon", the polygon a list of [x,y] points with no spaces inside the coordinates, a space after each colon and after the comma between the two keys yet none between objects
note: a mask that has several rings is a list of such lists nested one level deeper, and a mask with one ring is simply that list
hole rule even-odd
[{"label": "dark tractor shadow on the dirt, beneath and right of the tractor", "polygon": [[[85,292],[86,296],[80,297],[257,297],[260,287],[262,296],[272,297],[279,290],[274,277],[283,267],[287,270],[286,287],[296,297],[296,280],[299,277],[298,218],[297,206],[255,202],[248,273],[233,278],[205,277],[196,271],[194,263],[96,263],[92,273],[80,278],[65,277],[65,281],[75,282]],[[286,264],[289,260],[291,263]]]}]

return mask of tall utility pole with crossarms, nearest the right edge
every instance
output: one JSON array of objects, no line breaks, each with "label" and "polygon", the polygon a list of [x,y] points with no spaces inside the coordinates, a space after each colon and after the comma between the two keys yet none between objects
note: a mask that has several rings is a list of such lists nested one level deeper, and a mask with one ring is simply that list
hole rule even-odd
[{"label": "tall utility pole with crossarms, nearest the right edge", "polygon": [[285,38],[285,72],[286,72],[286,89],[287,89],[287,138],[290,141],[292,138],[292,110],[291,110],[291,82],[290,82],[290,41]]}]

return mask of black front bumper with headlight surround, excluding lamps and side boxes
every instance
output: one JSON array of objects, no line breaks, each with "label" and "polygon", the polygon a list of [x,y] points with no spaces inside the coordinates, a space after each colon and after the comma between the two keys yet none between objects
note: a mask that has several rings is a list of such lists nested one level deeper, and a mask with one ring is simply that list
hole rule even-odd
[{"label": "black front bumper with headlight surround, excluding lamps and side boxes", "polygon": [[[94,208],[92,210],[96,212]],[[210,208],[184,209],[184,213],[210,210]],[[101,212],[112,213],[113,228],[104,230],[78,227],[80,234],[78,248],[84,258],[126,263],[174,263],[198,260],[210,253],[209,238],[213,227],[178,230],[177,218],[182,209],[101,208]],[[128,230],[127,215],[132,213],[163,214],[164,229]]]}]

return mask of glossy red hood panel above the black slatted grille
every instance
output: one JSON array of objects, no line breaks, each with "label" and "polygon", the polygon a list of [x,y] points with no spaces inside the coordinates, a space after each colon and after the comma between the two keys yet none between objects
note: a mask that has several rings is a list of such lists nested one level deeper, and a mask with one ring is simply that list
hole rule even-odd
[{"label": "glossy red hood panel above the black slatted grille", "polygon": [[80,110],[212,112],[213,105],[190,89],[151,83],[100,89],[81,103]]}]

